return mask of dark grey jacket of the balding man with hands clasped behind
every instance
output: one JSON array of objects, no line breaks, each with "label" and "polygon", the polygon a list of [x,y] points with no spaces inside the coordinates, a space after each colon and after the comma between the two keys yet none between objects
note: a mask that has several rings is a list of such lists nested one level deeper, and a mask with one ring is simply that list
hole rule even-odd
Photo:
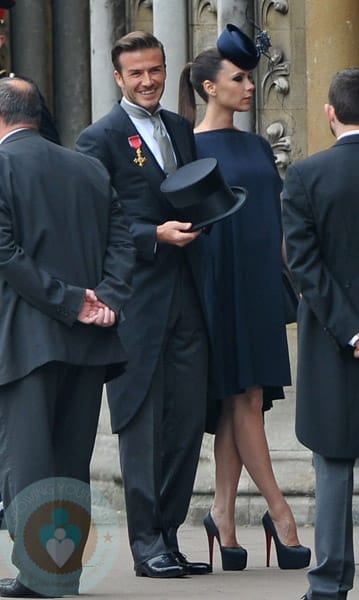
[{"label": "dark grey jacket of the balding man with hands clasped behind", "polygon": [[[0,222],[0,384],[53,360],[122,362],[115,328],[77,321],[85,288],[115,295],[106,275],[117,303],[130,295],[132,243],[100,162],[31,129],[12,134],[0,146]],[[123,261],[107,258],[115,246]]]}]

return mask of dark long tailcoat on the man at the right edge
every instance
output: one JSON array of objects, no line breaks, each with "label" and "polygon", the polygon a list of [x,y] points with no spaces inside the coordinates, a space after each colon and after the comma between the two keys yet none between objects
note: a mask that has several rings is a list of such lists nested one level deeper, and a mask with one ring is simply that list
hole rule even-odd
[{"label": "dark long tailcoat on the man at the right edge", "polygon": [[328,458],[359,456],[359,132],[288,168],[283,221],[298,313],[296,432]]}]

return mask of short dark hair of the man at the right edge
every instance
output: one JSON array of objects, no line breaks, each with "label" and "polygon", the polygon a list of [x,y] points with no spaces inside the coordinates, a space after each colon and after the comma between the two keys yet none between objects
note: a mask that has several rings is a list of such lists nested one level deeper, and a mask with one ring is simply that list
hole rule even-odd
[{"label": "short dark hair of the man at the right edge", "polygon": [[343,125],[359,125],[359,67],[343,69],[334,75],[328,99]]}]

